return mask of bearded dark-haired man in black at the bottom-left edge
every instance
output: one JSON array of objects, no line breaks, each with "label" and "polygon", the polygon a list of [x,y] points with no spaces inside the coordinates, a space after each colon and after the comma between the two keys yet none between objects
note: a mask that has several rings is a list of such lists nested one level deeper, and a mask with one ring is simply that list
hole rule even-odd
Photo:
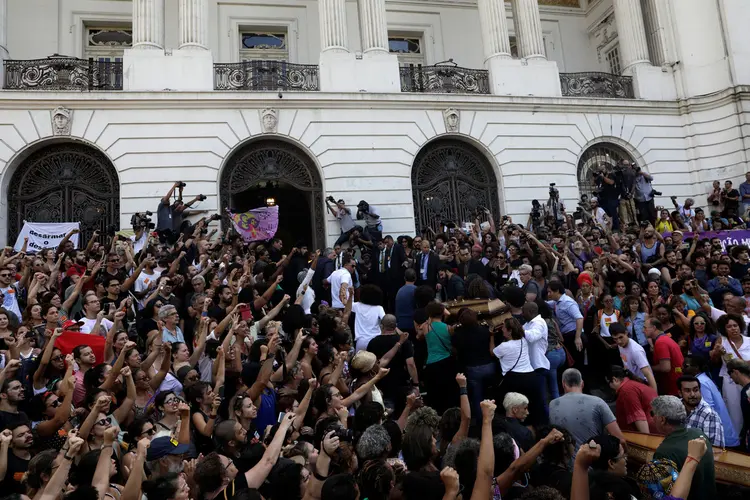
[{"label": "bearded dark-haired man in black at the bottom-left edge", "polygon": [[21,481],[29,469],[33,444],[34,436],[28,422],[13,424],[0,434],[0,453],[6,457],[5,464],[0,461],[0,476],[3,477],[0,488],[3,495],[26,493],[26,487]]}]

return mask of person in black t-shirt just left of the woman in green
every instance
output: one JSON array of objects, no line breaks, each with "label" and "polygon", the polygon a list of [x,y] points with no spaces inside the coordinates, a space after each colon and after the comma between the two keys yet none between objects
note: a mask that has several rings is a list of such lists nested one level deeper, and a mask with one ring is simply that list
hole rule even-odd
[{"label": "person in black t-shirt just left of the woman in green", "polygon": [[393,358],[388,363],[391,369],[383,380],[378,382],[378,389],[383,391],[383,399],[388,408],[394,410],[394,415],[400,415],[406,404],[409,392],[419,389],[417,365],[414,363],[414,346],[409,340],[409,334],[396,328],[396,316],[386,314],[380,320],[382,334],[370,340],[367,350],[377,356],[380,366],[387,359],[387,354],[399,345]]}]

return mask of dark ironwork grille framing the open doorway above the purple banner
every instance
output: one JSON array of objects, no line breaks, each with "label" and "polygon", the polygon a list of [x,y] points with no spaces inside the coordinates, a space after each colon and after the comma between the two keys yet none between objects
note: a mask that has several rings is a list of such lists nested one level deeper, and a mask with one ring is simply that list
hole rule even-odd
[{"label": "dark ironwork grille framing the open doorway above the purple banner", "polygon": [[[252,141],[227,162],[221,173],[221,206],[231,207],[232,196],[268,183],[284,183],[302,191],[310,203],[313,246],[326,245],[323,181],[310,157],[292,144],[277,140]],[[228,218],[224,218],[228,227]]]}]

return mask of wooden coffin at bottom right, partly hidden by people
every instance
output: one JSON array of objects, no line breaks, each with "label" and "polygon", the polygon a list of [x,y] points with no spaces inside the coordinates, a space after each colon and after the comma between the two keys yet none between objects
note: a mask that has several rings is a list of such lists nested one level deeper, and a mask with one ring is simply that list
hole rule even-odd
[{"label": "wooden coffin at bottom right, partly hidden by people", "polygon": [[[628,460],[637,462],[638,467],[654,458],[664,436],[624,431],[628,442]],[[716,481],[750,487],[750,455],[735,451],[713,448]],[[677,464],[682,467],[682,464]]]}]

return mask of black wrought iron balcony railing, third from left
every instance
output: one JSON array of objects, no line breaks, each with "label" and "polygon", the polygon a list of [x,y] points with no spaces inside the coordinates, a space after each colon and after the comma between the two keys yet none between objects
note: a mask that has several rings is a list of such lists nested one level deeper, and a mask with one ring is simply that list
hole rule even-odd
[{"label": "black wrought iron balcony railing, third from left", "polygon": [[489,94],[490,76],[484,69],[461,68],[452,60],[435,66],[401,66],[401,92]]}]

